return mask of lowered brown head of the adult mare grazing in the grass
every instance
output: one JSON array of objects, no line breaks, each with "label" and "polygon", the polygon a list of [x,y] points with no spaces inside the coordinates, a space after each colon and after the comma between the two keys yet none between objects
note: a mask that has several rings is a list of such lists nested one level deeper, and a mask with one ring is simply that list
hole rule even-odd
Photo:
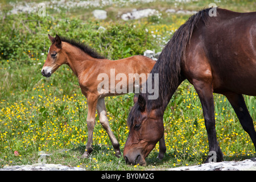
[{"label": "lowered brown head of the adult mare grazing in the grass", "polygon": [[123,150],[126,163],[146,165],[145,158],[163,137],[163,117],[158,109],[147,109],[145,98],[140,94],[127,118],[130,126]]}]

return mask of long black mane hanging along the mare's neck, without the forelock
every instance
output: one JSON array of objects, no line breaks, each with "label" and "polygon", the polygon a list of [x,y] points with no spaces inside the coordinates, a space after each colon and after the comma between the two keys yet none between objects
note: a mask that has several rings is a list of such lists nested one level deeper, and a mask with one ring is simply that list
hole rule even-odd
[{"label": "long black mane hanging along the mare's neck, without the forelock", "polygon": [[[179,27],[160,53],[159,59],[151,71],[151,73],[159,73],[160,97],[166,98],[168,96],[168,90],[171,88],[176,89],[179,86],[181,61],[185,60],[187,44],[190,42],[192,32],[197,23],[200,21],[207,22],[209,10],[204,9],[191,16],[187,22]],[[164,100],[164,98],[162,99]]]}]

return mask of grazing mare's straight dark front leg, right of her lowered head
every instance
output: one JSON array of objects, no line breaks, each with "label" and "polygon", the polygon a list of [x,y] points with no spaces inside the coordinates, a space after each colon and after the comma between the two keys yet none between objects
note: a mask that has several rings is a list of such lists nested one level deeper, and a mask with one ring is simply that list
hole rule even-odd
[{"label": "grazing mare's straight dark front leg, right of her lowered head", "polygon": [[209,154],[213,154],[213,156],[208,156],[207,160],[205,160],[205,163],[221,162],[223,159],[223,154],[217,142],[212,85],[210,82],[199,80],[193,80],[193,85],[203,107],[205,128],[207,129],[209,141]]}]

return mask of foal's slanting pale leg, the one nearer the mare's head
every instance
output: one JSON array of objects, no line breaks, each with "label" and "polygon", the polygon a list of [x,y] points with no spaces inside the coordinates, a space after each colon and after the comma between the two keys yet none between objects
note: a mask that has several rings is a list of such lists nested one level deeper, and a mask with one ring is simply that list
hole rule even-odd
[{"label": "foal's slanting pale leg, the one nearer the mare's head", "polygon": [[112,130],[110,129],[109,119],[106,116],[107,113],[106,113],[106,106],[105,106],[105,99],[104,98],[100,98],[98,100],[97,111],[98,111],[98,115],[100,117],[101,125],[104,127],[104,129],[108,133],[109,138],[112,142],[112,145],[113,145],[114,150],[115,150],[115,156],[117,156],[119,158],[121,156],[121,152],[120,152],[120,148],[119,148],[119,142],[117,141],[117,139],[115,138]]}]

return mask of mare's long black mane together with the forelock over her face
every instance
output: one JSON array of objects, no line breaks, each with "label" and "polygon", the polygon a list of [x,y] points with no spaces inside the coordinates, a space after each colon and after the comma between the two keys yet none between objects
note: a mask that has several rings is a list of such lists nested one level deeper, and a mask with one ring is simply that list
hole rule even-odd
[{"label": "mare's long black mane together with the forelock over her face", "polygon": [[[168,104],[170,101],[172,94],[182,81],[180,73],[181,61],[185,61],[185,50],[187,44],[190,42],[192,32],[197,26],[197,23],[203,22],[204,24],[207,24],[209,10],[210,9],[204,9],[195,15],[192,15],[187,22],[179,27],[170,41],[163,48],[158,61],[156,61],[156,64],[151,71],[152,85],[154,85],[154,74],[159,74],[159,97],[155,100],[148,100],[150,93],[141,93],[146,100],[147,113],[150,113],[152,109],[159,109],[164,103]],[[138,118],[140,116],[141,111],[139,111],[137,102],[130,111],[129,117],[127,118],[127,125],[131,126],[133,118]]]}]

